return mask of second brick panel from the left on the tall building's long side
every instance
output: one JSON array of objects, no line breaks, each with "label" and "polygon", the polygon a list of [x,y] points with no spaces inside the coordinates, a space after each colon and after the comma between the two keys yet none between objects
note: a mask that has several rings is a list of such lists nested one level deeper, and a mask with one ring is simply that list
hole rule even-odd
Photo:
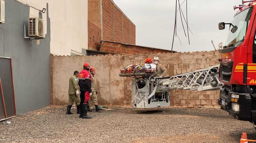
[{"label": "second brick panel from the left on the tall building's long side", "polygon": [[114,9],[114,41],[115,42],[122,42],[123,37],[123,28],[122,28],[122,12],[115,7]]}]

